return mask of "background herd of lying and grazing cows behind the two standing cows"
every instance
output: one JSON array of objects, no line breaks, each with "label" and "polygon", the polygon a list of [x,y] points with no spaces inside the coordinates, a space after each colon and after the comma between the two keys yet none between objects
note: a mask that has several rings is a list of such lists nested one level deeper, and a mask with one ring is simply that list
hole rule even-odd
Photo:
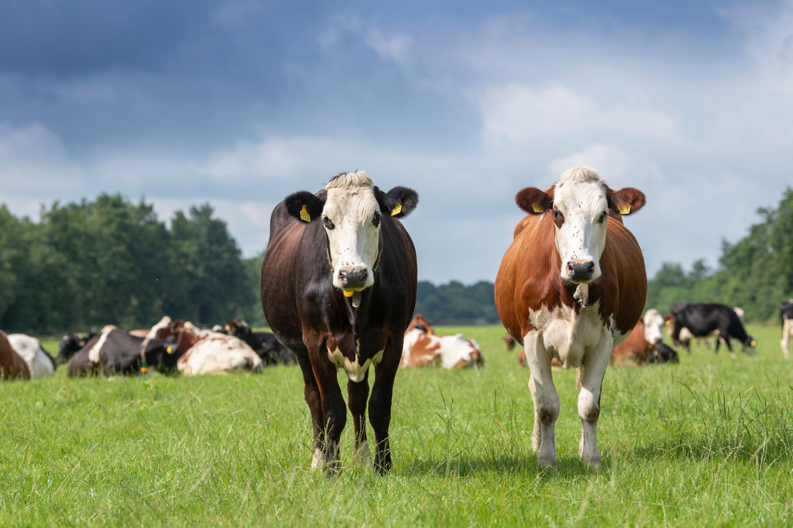
[{"label": "background herd of lying and grazing cows behind the two standing cows", "polygon": [[[744,327],[744,310],[738,306],[678,303],[668,315],[647,310],[633,331],[611,351],[611,363],[640,366],[644,363],[680,363],[678,350],[691,354],[691,342],[705,348],[726,345],[733,353],[731,340],[738,340],[748,355],[756,353],[757,341]],[[780,304],[785,358],[793,337],[793,299]],[[664,329],[672,347],[664,343]],[[199,344],[200,343],[200,344]],[[504,344],[513,351],[517,344],[509,334]],[[198,345],[198,346],[197,346]],[[528,367],[526,351],[521,348],[518,363]],[[190,321],[171,321],[163,317],[151,329],[125,331],[106,326],[100,332],[67,332],[60,340],[58,355],[50,355],[35,337],[6,334],[0,330],[0,378],[43,378],[67,364],[68,375],[112,376],[139,374],[149,369],[161,374],[186,376],[230,372],[256,372],[270,365],[296,365],[297,357],[270,332],[254,332],[241,317],[213,329],[198,329]],[[554,367],[560,367],[554,359]],[[485,356],[475,340],[461,333],[439,336],[421,314],[416,313],[404,335],[400,366],[404,368],[442,367],[461,370],[484,367]]]}]

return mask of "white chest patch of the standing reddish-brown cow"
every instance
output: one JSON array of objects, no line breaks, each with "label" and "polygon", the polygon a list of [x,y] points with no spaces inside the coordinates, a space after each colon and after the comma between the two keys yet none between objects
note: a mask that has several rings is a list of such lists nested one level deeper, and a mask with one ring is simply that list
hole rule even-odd
[{"label": "white chest patch of the standing reddish-brown cow", "polygon": [[578,313],[570,306],[530,310],[531,325],[540,333],[551,357],[558,359],[562,367],[580,367],[581,359],[612,338],[611,331],[600,320],[599,304],[596,302]]}]

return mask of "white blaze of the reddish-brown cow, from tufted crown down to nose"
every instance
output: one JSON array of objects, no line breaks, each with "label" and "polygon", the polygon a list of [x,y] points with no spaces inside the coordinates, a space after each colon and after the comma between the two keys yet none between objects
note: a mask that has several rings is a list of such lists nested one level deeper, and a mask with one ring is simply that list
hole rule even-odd
[{"label": "white blaze of the reddish-brown cow, from tufted crown down to nose", "polygon": [[598,279],[600,255],[606,247],[606,221],[600,222],[608,209],[606,184],[595,169],[567,169],[554,187],[554,207],[564,216],[556,232],[561,278],[569,279],[569,264],[592,263],[586,282]]}]

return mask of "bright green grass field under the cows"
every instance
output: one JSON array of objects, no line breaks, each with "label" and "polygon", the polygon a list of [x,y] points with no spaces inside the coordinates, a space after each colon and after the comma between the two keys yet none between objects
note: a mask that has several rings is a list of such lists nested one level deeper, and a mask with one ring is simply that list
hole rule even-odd
[{"label": "bright green grass field under the cows", "polygon": [[539,471],[528,371],[503,331],[439,330],[478,340],[487,366],[400,372],[388,477],[354,465],[351,427],[343,473],[309,472],[297,367],[2,383],[0,526],[793,524],[793,361],[778,329],[751,329],[753,358],[695,349],[678,366],[610,368],[599,474],[577,458],[573,370],[554,374],[558,462]]}]

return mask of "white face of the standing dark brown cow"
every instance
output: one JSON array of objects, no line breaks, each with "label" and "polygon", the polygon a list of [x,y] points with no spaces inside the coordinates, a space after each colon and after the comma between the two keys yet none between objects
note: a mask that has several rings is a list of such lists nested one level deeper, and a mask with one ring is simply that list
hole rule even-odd
[{"label": "white face of the standing dark brown cow", "polygon": [[326,187],[322,222],[328,234],[333,286],[344,291],[361,291],[374,284],[381,211],[369,182],[355,186],[331,182]]}]

